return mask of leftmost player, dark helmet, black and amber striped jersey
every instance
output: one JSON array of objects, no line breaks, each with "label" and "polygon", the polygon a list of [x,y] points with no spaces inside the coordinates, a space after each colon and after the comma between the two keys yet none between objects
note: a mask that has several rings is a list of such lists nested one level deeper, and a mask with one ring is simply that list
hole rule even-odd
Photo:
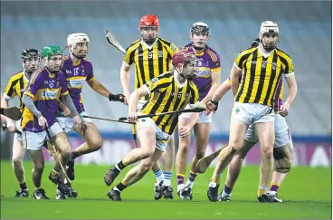
[{"label": "leftmost player, dark helmet, black and amber striped jersey", "polygon": [[[24,94],[24,88],[26,87],[32,73],[38,69],[40,56],[38,50],[33,48],[24,49],[21,56],[22,65],[24,67],[23,71],[15,73],[8,81],[8,84],[5,88],[5,93],[3,99],[1,100],[1,106],[8,108],[9,101],[17,96],[20,100],[20,111],[24,109],[24,103],[22,101],[22,96]],[[23,146],[22,139],[22,130],[20,128],[21,121],[13,121],[5,117],[5,122],[7,125],[8,131],[14,132],[14,141],[13,141],[13,157],[12,165],[14,170],[14,175],[18,181],[20,189],[16,191],[14,197],[28,197],[29,189],[25,184],[25,174],[24,174],[24,153],[25,148]]]}]

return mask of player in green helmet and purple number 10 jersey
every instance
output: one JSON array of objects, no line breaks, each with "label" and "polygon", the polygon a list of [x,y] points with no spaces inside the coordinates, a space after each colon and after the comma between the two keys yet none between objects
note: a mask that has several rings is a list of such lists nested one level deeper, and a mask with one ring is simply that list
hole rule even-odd
[{"label": "player in green helmet and purple number 10 jersey", "polygon": [[[33,72],[22,98],[24,110],[21,122],[23,129],[24,148],[29,150],[33,159],[33,197],[35,199],[48,199],[42,188],[42,174],[44,158],[42,146],[50,132],[52,143],[57,148],[58,157],[63,164],[70,158],[71,145],[55,119],[58,110],[58,101],[62,96],[63,103],[71,110],[76,126],[81,126],[81,118],[75,109],[69,95],[66,80],[61,72],[63,52],[59,46],[49,45],[43,47],[43,68]],[[58,185],[62,193],[71,196],[72,189],[63,184],[60,172],[62,170],[59,160],[55,160],[49,179]]]}]

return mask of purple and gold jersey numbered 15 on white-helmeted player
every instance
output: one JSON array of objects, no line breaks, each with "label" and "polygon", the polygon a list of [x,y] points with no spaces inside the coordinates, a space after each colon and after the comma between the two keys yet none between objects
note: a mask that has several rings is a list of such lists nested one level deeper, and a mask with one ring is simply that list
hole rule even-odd
[{"label": "purple and gold jersey numbered 15 on white-helmeted player", "polygon": [[[92,64],[86,59],[81,59],[79,63],[73,63],[71,56],[65,57],[62,64],[62,72],[64,73],[67,81],[68,91],[70,91],[71,100],[79,113],[84,111],[83,100],[81,98],[81,91],[85,81],[94,79]],[[62,114],[62,109],[59,108]]]}]

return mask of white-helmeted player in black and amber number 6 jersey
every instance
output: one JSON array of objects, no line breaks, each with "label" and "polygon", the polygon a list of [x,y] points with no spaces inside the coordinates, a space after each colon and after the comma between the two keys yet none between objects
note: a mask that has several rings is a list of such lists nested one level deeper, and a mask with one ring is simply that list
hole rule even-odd
[{"label": "white-helmeted player in black and amber number 6 jersey", "polygon": [[[290,56],[276,48],[279,39],[278,24],[271,21],[263,22],[259,38],[259,46],[239,53],[233,64],[231,83],[235,93],[235,102],[229,143],[228,148],[222,150],[218,156],[209,187],[218,187],[224,168],[236,153],[244,150],[243,137],[249,126],[252,125],[259,139],[262,153],[257,200],[262,203],[270,203],[276,201],[273,196],[267,194],[273,170],[274,108],[278,105],[278,110],[283,117],[288,114],[290,104],[296,97],[297,83]],[[242,71],[243,79],[239,83],[239,75]],[[290,90],[287,100],[280,105],[275,103],[275,100],[276,95],[279,94],[278,88],[282,74]],[[239,84],[241,85],[239,86]],[[217,104],[216,100],[211,100],[207,106],[214,110]],[[208,189],[207,194],[211,201],[217,201],[217,190]]]}]

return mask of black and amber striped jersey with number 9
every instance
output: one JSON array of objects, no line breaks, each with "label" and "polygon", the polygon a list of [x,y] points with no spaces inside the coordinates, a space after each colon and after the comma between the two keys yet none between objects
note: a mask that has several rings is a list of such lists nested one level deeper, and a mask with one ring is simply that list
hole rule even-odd
[{"label": "black and amber striped jersey with number 9", "polygon": [[178,52],[175,44],[157,37],[156,43],[148,46],[141,39],[131,43],[126,49],[124,63],[135,65],[135,84],[137,90],[147,81],[164,72],[169,72],[169,65],[174,53]]}]

